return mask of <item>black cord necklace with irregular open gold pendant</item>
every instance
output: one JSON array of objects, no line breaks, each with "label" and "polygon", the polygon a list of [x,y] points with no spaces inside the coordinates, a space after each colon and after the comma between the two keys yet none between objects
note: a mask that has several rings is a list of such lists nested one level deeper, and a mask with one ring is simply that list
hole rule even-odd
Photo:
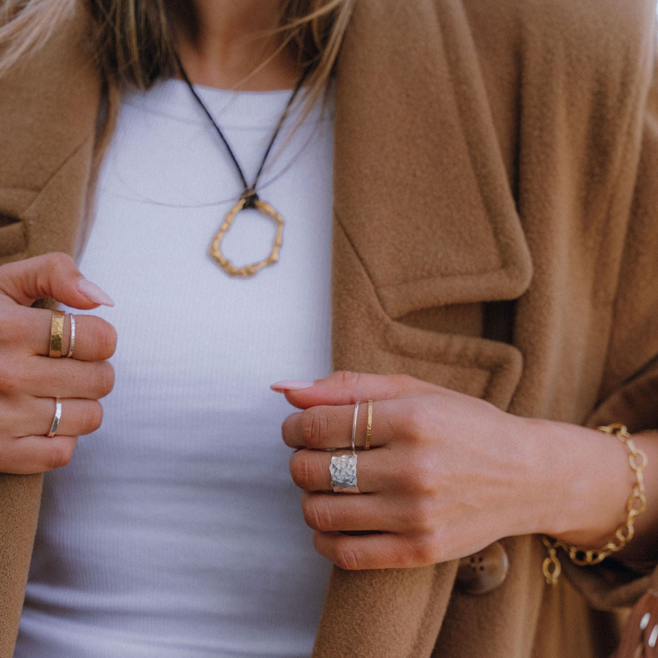
[{"label": "black cord necklace with irregular open gold pendant", "polygon": [[[279,259],[279,251],[281,249],[283,230],[284,230],[284,218],[269,203],[267,203],[266,201],[261,201],[261,199],[259,199],[259,196],[256,192],[256,186],[258,184],[259,178],[261,177],[261,173],[263,172],[263,168],[265,167],[267,158],[270,155],[272,146],[274,146],[274,141],[276,140],[276,137],[278,136],[281,127],[286,121],[286,118],[288,117],[288,113],[290,113],[290,108],[292,107],[293,101],[297,97],[297,94],[301,89],[301,86],[309,72],[309,69],[306,68],[304,70],[303,74],[301,74],[301,78],[299,78],[299,81],[295,86],[295,89],[293,89],[290,99],[288,100],[288,104],[286,105],[286,109],[284,109],[278,124],[276,124],[274,133],[272,134],[272,139],[270,139],[270,143],[268,144],[267,149],[265,150],[265,155],[263,155],[263,161],[261,161],[261,166],[259,166],[258,172],[255,178],[253,179],[253,183],[249,185],[247,183],[247,178],[245,177],[242,167],[240,166],[238,159],[233,153],[233,149],[230,147],[228,141],[226,140],[226,137],[224,137],[224,133],[222,133],[222,131],[220,130],[220,127],[217,125],[217,122],[213,118],[213,115],[209,112],[208,108],[204,105],[201,98],[199,98],[199,94],[192,86],[192,83],[190,82],[190,78],[188,77],[188,74],[185,68],[183,67],[183,64],[181,63],[178,55],[176,55],[176,60],[178,61],[178,69],[180,70],[180,74],[183,76],[183,80],[185,80],[185,82],[187,83],[188,88],[190,88],[193,97],[195,97],[197,103],[199,103],[206,116],[211,120],[213,126],[215,126],[215,130],[217,131],[217,134],[222,139],[224,146],[226,146],[228,155],[230,155],[233,163],[236,165],[238,174],[240,174],[240,180],[244,186],[244,191],[241,193],[238,203],[236,203],[236,205],[234,205],[234,207],[232,207],[232,209],[228,211],[228,214],[226,215],[226,217],[224,217],[224,221],[222,222],[222,225],[219,227],[219,230],[216,232],[215,236],[213,237],[213,241],[211,242],[209,253],[213,258],[213,260],[222,268],[222,270],[224,270],[224,272],[226,272],[226,274],[229,274],[230,276],[242,276],[242,277],[253,276],[254,274],[257,274],[266,265],[274,265],[274,263],[276,263]],[[245,265],[244,267],[236,267],[222,253],[222,240],[224,240],[224,236],[231,228],[231,224],[233,223],[233,220],[236,218],[236,215],[238,215],[238,213],[241,210],[247,208],[255,209],[259,211],[259,213],[263,213],[263,215],[266,215],[269,218],[273,219],[276,222],[276,235],[274,236],[272,251],[270,252],[270,255],[268,255],[268,257],[263,259],[263,261],[259,261],[258,263],[251,263],[251,265]]]}]

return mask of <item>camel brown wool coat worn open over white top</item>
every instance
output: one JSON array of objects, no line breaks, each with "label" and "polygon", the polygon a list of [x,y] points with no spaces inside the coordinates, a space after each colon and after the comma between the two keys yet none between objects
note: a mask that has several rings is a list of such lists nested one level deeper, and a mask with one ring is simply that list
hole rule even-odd
[{"label": "camel brown wool coat worn open over white top", "polygon": [[[336,70],[335,368],[658,428],[654,19],[651,0],[357,0]],[[107,112],[87,33],[78,6],[0,78],[0,263],[76,248]],[[0,475],[1,658],[40,488]],[[480,596],[456,562],[334,569],[314,658],[609,655],[650,569],[563,557],[553,588],[540,538],[501,543],[509,573]]]}]

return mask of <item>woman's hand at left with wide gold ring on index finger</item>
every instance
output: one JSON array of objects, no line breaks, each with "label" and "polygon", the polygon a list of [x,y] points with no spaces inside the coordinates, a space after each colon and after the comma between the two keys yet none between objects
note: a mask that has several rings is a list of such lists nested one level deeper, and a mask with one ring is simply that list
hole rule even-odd
[{"label": "woman's hand at left with wide gold ring on index finger", "polygon": [[[66,254],[0,266],[0,472],[38,473],[67,464],[78,436],[101,425],[98,400],[114,386],[114,368],[106,360],[116,347],[114,327],[93,315],[76,315],[72,358],[51,359],[53,313],[30,308],[41,297],[76,309],[114,305]],[[69,347],[67,317],[64,355]],[[47,438],[57,397],[62,416],[56,436]]]}]

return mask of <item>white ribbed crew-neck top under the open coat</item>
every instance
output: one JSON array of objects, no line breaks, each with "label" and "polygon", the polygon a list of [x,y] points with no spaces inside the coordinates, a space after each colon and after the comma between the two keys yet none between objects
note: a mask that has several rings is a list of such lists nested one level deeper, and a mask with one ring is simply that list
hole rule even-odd
[{"label": "white ribbed crew-neck top under the open coat", "polygon": [[[290,91],[199,93],[253,176]],[[15,658],[311,653],[330,565],[280,436],[295,410],[268,388],[330,372],[331,111],[286,141],[298,113],[259,186],[280,262],[238,280],[207,254],[238,174],[190,91],[124,100],[80,262],[116,301],[94,311],[118,332],[116,386],[46,474]],[[245,211],[226,253],[258,261],[273,236]]]}]

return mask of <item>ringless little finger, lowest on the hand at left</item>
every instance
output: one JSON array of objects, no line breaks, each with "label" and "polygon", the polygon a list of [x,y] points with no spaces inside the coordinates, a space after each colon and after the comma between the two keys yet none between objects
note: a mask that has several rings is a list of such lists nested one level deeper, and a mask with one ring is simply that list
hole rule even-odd
[{"label": "ringless little finger, lowest on the hand at left", "polygon": [[65,466],[71,461],[77,441],[76,436],[64,435],[7,440],[0,446],[0,471],[30,475]]}]

